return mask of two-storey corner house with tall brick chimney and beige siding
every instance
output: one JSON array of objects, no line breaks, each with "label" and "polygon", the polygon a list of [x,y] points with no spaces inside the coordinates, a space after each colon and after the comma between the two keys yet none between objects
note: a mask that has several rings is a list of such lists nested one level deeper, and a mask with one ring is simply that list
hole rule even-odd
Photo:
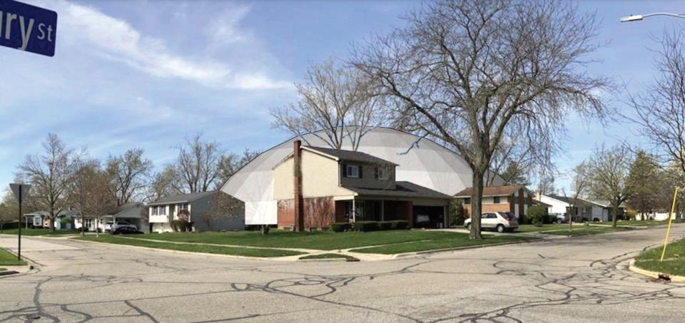
[{"label": "two-storey corner house with tall brick chimney and beige siding", "polygon": [[[445,227],[450,195],[397,181],[397,164],[367,153],[293,143],[273,168],[278,227],[295,225],[295,198],[303,200],[305,229],[333,222],[407,220],[410,227]],[[295,172],[300,163],[301,172]],[[295,190],[301,176],[301,189]]]}]

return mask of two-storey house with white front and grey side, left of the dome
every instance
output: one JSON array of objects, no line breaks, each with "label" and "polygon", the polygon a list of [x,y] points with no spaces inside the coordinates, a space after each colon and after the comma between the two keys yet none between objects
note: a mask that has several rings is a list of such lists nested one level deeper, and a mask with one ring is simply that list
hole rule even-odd
[{"label": "two-storey house with white front and grey side, left of the dome", "polygon": [[[235,215],[226,214],[225,217],[213,219],[205,218],[210,212],[216,194],[220,191],[180,194],[161,198],[148,203],[148,221],[151,232],[171,232],[172,220],[181,220],[179,215],[188,214],[188,221],[193,223],[193,230],[202,232],[209,230],[243,230],[245,228],[244,210],[238,210]],[[242,204],[242,203],[241,203]]]}]

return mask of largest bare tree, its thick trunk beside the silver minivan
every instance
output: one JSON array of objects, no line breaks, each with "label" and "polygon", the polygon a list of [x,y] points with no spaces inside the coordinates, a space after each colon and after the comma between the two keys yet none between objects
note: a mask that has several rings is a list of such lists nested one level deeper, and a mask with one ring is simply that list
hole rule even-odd
[{"label": "largest bare tree, its thick trunk beside the silver minivan", "polygon": [[472,170],[472,227],[480,239],[482,188],[503,138],[535,152],[557,148],[571,112],[601,116],[607,81],[584,72],[594,15],[564,1],[435,1],[408,26],[355,51],[355,66],[395,101],[418,133],[455,148]]}]

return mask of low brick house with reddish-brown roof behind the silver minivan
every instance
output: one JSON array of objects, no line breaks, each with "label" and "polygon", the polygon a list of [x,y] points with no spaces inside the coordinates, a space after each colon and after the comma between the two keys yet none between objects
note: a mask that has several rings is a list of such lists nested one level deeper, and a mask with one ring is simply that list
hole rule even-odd
[{"label": "low brick house with reddish-brown roof behind the silver minivan", "polygon": [[[466,217],[471,217],[472,188],[466,188],[455,194],[462,201]],[[517,219],[524,218],[531,205],[532,198],[525,186],[505,185],[483,188],[482,212],[512,212]]]}]

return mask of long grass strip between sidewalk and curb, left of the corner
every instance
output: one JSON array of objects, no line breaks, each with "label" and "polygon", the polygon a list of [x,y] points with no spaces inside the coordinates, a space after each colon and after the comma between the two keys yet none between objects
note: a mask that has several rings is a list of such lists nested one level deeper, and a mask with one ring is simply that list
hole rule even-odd
[{"label": "long grass strip between sidewalk and curb, left of the corner", "polygon": [[213,245],[186,245],[168,242],[154,242],[141,239],[130,239],[128,237],[116,237],[112,235],[101,235],[96,237],[89,235],[86,237],[76,237],[78,240],[96,241],[113,243],[115,245],[133,245],[137,247],[148,247],[165,250],[178,250],[188,252],[205,252],[219,255],[234,255],[245,257],[285,257],[294,255],[304,255],[303,252],[295,252],[290,250],[275,250],[275,249],[257,249],[257,248],[241,248],[241,247],[221,247]]}]

